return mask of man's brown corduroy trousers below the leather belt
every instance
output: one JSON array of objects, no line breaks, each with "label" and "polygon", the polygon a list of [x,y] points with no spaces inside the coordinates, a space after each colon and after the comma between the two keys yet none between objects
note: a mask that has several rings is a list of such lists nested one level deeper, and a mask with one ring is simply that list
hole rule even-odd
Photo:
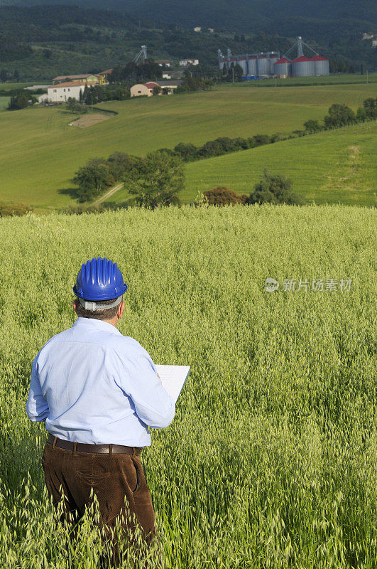
[{"label": "man's brown corduroy trousers below the leather belt", "polygon": [[[155,514],[141,459],[136,454],[74,452],[46,443],[41,462],[54,506],[58,506],[64,493],[61,521],[71,524],[72,528],[84,515],[86,506],[92,503],[90,495],[93,489],[101,514],[100,525],[106,539],[112,542],[113,555],[108,566],[119,563],[116,536],[111,538],[116,516],[123,515],[121,528],[127,534],[132,533],[139,523],[146,543],[151,543],[155,536]],[[129,511],[126,511],[127,504]],[[73,516],[73,523],[69,514]],[[72,536],[74,534],[75,531]]]}]

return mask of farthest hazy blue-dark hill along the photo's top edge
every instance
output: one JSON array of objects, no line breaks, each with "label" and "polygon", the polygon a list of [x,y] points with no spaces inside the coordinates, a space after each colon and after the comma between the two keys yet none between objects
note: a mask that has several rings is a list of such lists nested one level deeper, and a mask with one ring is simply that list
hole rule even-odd
[{"label": "farthest hazy blue-dark hill along the photo's top edge", "polygon": [[232,32],[335,38],[377,31],[375,0],[0,0],[1,5],[76,4],[124,11],[136,18],[182,28],[205,26]]}]

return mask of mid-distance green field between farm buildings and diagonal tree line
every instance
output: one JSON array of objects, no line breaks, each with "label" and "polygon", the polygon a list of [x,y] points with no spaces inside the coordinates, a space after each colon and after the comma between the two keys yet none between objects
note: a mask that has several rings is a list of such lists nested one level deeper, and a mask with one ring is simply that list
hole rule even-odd
[{"label": "mid-distance green field between farm buildings and diagonal tree line", "polygon": [[[59,107],[0,113],[0,200],[41,209],[75,203],[70,179],[87,159],[113,151],[143,154],[179,142],[203,144],[219,136],[288,133],[322,119],[329,105],[356,109],[376,96],[374,85],[255,89],[222,85],[211,92],[102,105],[119,112],[87,129]],[[15,175],[16,173],[16,175]]]}]

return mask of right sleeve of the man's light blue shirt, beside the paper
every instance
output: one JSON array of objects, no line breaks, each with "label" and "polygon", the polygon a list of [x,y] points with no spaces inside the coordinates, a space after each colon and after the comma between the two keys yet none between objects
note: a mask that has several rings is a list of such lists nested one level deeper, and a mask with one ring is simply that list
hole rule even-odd
[{"label": "right sleeve of the man's light blue shirt, beside the paper", "polygon": [[127,378],[124,391],[135,405],[136,415],[149,427],[168,427],[175,415],[175,402],[163,388],[147,351],[126,362]]}]

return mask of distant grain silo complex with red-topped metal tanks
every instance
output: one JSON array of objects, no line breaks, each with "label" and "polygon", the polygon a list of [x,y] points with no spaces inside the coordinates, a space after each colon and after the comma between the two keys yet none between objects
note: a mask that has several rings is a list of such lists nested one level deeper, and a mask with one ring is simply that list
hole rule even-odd
[{"label": "distant grain silo complex with red-topped metal tanks", "polygon": [[[304,55],[303,46],[314,54],[311,58]],[[297,50],[297,56],[291,60],[288,58],[293,50]],[[232,55],[228,49],[224,56],[217,50],[219,69],[229,70],[232,66],[240,65],[242,79],[266,79],[271,77],[315,77],[315,75],[329,75],[329,60],[322,58],[315,50],[302,41],[301,36],[296,43],[280,58],[278,51],[262,51],[242,55]]]}]

